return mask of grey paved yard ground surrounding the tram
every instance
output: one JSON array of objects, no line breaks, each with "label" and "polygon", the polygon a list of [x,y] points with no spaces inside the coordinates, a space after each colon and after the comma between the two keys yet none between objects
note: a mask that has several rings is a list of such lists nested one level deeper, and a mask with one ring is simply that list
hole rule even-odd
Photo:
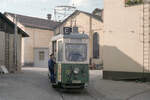
[{"label": "grey paved yard ground surrounding the tram", "polygon": [[149,100],[150,84],[102,80],[90,72],[89,87],[81,92],[51,87],[46,68],[24,68],[22,73],[0,76],[0,100]]}]

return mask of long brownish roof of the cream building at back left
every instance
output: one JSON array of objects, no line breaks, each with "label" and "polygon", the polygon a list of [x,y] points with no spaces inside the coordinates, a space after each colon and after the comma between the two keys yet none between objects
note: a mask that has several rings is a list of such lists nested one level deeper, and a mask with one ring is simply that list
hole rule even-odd
[{"label": "long brownish roof of the cream building at back left", "polygon": [[[15,17],[15,14],[13,13],[5,12],[5,15],[7,14],[12,17]],[[56,26],[59,24],[58,22],[48,20],[48,19],[24,16],[24,15],[19,15],[19,14],[16,14],[16,16],[19,22],[27,27],[54,30]]]}]

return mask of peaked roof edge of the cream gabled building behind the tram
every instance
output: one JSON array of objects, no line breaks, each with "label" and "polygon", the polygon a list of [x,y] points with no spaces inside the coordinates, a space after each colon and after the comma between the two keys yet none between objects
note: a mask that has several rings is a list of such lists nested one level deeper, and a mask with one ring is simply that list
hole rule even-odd
[{"label": "peaked roof edge of the cream gabled building behind the tram", "polygon": [[71,18],[72,16],[75,16],[75,15],[78,15],[80,13],[84,13],[88,16],[91,16],[92,18],[100,21],[100,22],[103,22],[102,18],[100,16],[97,16],[97,15],[93,15],[91,13],[88,13],[88,12],[85,12],[85,11],[81,11],[81,10],[76,10],[75,12],[73,12],[69,17],[67,17],[64,21],[62,21],[57,27],[61,26],[63,23],[65,23],[69,18]]}]

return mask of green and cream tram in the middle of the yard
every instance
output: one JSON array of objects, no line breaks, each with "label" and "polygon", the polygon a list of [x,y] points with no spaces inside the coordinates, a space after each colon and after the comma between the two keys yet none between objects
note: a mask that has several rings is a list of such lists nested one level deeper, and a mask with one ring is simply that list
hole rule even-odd
[{"label": "green and cream tram in the middle of the yard", "polygon": [[55,86],[84,88],[89,82],[89,38],[86,34],[59,34],[52,38],[56,58]]}]

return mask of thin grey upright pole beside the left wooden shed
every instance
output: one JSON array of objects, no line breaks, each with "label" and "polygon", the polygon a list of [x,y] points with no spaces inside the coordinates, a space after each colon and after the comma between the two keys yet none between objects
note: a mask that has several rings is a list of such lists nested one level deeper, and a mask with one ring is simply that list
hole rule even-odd
[{"label": "thin grey upright pole beside the left wooden shed", "polygon": [[17,71],[17,40],[18,40],[18,29],[17,29],[17,16],[15,14],[15,35],[14,35],[14,64],[15,64],[15,71]]}]

